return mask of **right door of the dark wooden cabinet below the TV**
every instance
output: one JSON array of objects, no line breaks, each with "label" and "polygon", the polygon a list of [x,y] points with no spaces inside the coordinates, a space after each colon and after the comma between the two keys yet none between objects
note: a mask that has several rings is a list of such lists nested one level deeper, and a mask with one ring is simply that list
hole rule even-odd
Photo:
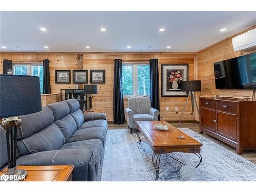
[{"label": "right door of the dark wooden cabinet below the TV", "polygon": [[237,115],[223,112],[216,112],[217,114],[217,133],[237,141]]}]

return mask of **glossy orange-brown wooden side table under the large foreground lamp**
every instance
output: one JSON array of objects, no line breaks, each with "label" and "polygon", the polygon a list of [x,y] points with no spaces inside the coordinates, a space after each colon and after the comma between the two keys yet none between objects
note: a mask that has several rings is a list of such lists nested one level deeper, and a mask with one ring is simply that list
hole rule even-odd
[{"label": "glossy orange-brown wooden side table under the large foreground lamp", "polygon": [[[74,165],[18,166],[26,169],[27,177],[23,181],[72,181]],[[0,177],[7,173],[7,168],[0,172]]]}]

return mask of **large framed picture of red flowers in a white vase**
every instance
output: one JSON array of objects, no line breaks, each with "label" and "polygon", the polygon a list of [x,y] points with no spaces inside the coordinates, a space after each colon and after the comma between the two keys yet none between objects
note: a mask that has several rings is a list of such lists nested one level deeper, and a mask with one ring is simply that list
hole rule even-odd
[{"label": "large framed picture of red flowers in a white vase", "polygon": [[161,65],[162,97],[187,97],[182,81],[188,80],[188,64]]}]

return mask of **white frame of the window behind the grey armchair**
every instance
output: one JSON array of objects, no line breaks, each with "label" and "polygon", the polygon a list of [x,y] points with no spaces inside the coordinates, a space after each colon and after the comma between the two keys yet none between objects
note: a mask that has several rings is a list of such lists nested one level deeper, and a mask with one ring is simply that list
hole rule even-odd
[{"label": "white frame of the window behind the grey armchair", "polygon": [[133,95],[123,95],[124,98],[129,97],[149,97],[150,95],[138,94],[138,66],[150,66],[150,63],[131,63],[123,62],[122,66],[133,66]]}]

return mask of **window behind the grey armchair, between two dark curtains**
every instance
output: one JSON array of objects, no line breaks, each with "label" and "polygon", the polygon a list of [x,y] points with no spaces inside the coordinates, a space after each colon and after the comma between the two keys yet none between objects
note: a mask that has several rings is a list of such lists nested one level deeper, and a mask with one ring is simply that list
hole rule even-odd
[{"label": "window behind the grey armchair, between two dark curtains", "polygon": [[123,64],[122,81],[124,96],[150,95],[150,65]]}]

